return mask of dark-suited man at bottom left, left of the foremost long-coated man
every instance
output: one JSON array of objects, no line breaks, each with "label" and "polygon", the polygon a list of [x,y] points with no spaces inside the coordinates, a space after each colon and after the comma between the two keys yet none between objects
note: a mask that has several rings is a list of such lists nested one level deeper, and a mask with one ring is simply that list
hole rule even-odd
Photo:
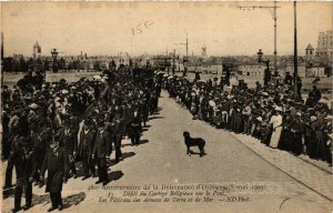
[{"label": "dark-suited man at bottom left, left of the foremost long-coated man", "polygon": [[24,211],[31,207],[32,199],[32,181],[34,174],[33,145],[24,136],[20,136],[12,143],[12,158],[17,171],[17,185],[14,193],[14,209],[12,212],[21,210],[21,196],[23,187],[26,190],[26,206]]}]

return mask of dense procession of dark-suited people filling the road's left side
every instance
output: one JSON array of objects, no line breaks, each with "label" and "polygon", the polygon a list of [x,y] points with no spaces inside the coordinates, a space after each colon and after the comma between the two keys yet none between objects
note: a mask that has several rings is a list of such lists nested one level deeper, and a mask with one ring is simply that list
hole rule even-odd
[{"label": "dense procession of dark-suited people filling the road's left side", "polygon": [[105,185],[112,150],[118,163],[123,160],[124,138],[131,145],[140,144],[149,115],[158,110],[161,79],[134,81],[124,67],[77,82],[40,83],[31,77],[28,73],[12,90],[4,85],[1,91],[4,190],[13,186],[14,168],[13,212],[22,209],[23,189],[28,210],[32,185],[44,184],[52,204],[48,211],[62,210],[62,184],[78,178],[77,162],[82,162],[82,180],[98,178],[95,184]]}]

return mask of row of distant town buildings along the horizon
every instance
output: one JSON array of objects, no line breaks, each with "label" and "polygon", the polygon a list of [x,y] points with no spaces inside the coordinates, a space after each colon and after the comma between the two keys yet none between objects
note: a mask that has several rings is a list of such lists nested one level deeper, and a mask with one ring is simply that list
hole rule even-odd
[{"label": "row of distant town buildings along the horizon", "polygon": [[[299,75],[301,78],[330,77],[332,75],[333,44],[332,32],[326,31],[319,34],[317,48],[314,50],[312,44],[305,48],[305,55],[299,58]],[[120,52],[117,55],[88,57],[81,51],[79,55],[62,55],[57,49],[51,50],[51,54],[42,55],[41,47],[38,42],[33,45],[32,58],[24,59],[23,55],[13,55],[12,67],[22,67],[20,62],[27,62],[31,67],[42,67],[47,70],[110,70],[112,67],[120,65],[132,67],[153,67],[157,70],[183,71],[188,67],[189,72],[215,73],[222,74],[228,68],[232,73],[244,77],[263,77],[266,65],[258,62],[258,57],[208,57],[206,48],[202,48],[201,55],[192,55],[185,59],[175,52],[164,55],[142,54],[131,58],[127,52]],[[281,74],[285,72],[293,73],[293,57],[279,55],[278,71]],[[36,65],[38,64],[38,65]],[[274,70],[270,64],[271,70]]]}]

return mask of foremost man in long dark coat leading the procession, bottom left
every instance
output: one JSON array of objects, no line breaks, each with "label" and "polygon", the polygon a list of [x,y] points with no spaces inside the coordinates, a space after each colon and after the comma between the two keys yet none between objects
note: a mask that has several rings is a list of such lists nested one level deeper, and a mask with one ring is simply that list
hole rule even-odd
[{"label": "foremost man in long dark coat leading the procession, bottom left", "polygon": [[58,141],[51,142],[50,149],[46,153],[40,172],[40,181],[44,180],[44,173],[47,170],[48,182],[46,192],[50,192],[52,203],[52,206],[48,210],[48,212],[51,212],[57,207],[61,211],[63,209],[61,199],[62,183],[67,183],[69,161],[67,151],[59,146]]}]

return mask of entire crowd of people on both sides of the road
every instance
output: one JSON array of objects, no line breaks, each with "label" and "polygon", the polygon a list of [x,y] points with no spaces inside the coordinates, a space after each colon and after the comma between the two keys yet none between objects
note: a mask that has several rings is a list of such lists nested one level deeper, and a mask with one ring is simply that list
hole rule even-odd
[{"label": "entire crowd of people on both sides of the road", "polygon": [[193,120],[332,165],[332,112],[315,85],[305,101],[295,98],[289,74],[272,78],[265,87],[256,82],[255,88],[243,80],[232,87],[223,78],[202,81],[199,74],[193,81],[168,74],[138,80],[127,68],[77,82],[43,82],[37,77],[30,72],[13,89],[3,85],[1,91],[4,189],[13,186],[13,168],[17,173],[13,212],[21,210],[23,189],[27,210],[32,185],[43,184],[50,192],[49,211],[62,210],[62,184],[78,178],[78,162],[83,181],[98,178],[95,184],[108,184],[112,150],[119,163],[125,136],[132,145],[140,144],[149,115],[158,110],[161,88]]}]

